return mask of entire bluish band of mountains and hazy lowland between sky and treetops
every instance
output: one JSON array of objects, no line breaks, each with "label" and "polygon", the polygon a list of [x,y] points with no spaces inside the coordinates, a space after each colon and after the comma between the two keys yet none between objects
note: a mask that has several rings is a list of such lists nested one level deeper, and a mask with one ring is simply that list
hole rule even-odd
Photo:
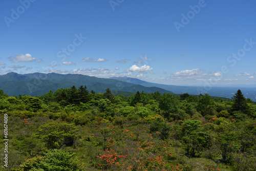
[{"label": "entire bluish band of mountains and hazy lowland between sky and treetops", "polygon": [[[9,96],[28,94],[38,96],[53,92],[57,89],[66,89],[76,86],[86,85],[88,90],[94,90],[97,93],[104,93],[105,89],[110,88],[116,94],[124,92],[136,93],[174,93],[190,95],[199,95],[200,93],[208,93],[210,96],[231,98],[238,89],[242,91],[245,98],[256,101],[256,86],[232,85],[232,87],[199,87],[199,86],[173,86],[166,84],[158,84],[143,81],[130,77],[111,77],[98,78],[81,74],[56,74],[56,73],[33,73],[33,74],[17,74],[14,72],[0,76],[0,89]],[[119,93],[120,92],[120,93]],[[121,93],[122,92],[122,93]]]}]

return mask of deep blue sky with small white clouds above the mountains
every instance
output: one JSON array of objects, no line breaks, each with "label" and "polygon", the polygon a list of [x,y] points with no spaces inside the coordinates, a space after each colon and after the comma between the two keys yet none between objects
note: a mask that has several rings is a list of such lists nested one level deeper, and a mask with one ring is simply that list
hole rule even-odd
[{"label": "deep blue sky with small white clouds above the mountains", "polygon": [[255,5],[253,0],[1,1],[0,75],[256,84]]}]

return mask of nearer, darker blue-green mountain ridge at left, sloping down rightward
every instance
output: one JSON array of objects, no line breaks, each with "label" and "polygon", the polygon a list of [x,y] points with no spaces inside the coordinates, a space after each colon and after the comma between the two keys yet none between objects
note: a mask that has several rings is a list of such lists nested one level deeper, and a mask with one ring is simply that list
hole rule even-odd
[{"label": "nearer, darker blue-green mountain ridge at left, sloping down rightward", "polygon": [[31,96],[38,96],[48,93],[49,90],[53,92],[57,89],[66,89],[75,86],[86,85],[88,90],[94,90],[97,93],[104,93],[107,88],[115,92],[130,92],[137,91],[145,93],[173,93],[158,87],[145,87],[140,84],[120,81],[117,79],[97,78],[80,74],[56,74],[56,73],[33,73],[33,74],[17,74],[14,72],[0,76],[0,89],[2,89],[9,96],[19,94],[26,94]]}]

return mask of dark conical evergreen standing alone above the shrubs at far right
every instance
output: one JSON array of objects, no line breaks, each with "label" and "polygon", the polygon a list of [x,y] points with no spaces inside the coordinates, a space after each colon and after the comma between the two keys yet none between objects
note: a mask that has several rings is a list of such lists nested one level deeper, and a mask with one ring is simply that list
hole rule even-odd
[{"label": "dark conical evergreen standing alone above the shrubs at far right", "polygon": [[240,89],[237,91],[236,94],[234,94],[233,99],[234,101],[232,104],[231,112],[241,111],[244,114],[250,114],[249,106]]}]

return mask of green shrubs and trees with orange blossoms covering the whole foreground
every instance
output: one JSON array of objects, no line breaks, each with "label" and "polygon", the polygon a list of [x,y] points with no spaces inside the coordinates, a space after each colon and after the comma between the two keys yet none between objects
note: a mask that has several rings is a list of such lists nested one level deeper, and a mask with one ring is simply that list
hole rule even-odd
[{"label": "green shrubs and trees with orange blossoms covering the whole foreground", "polygon": [[256,170],[256,103],[234,93],[0,90],[0,170]]}]

